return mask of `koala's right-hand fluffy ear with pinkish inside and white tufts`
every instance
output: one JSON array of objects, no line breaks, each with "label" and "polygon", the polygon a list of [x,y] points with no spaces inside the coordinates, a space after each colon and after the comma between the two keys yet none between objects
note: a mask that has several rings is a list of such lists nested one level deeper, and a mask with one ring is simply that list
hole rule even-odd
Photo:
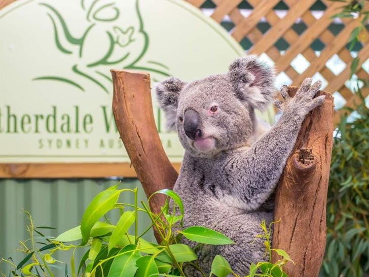
[{"label": "koala's right-hand fluffy ear with pinkish inside and white tufts", "polygon": [[237,96],[253,108],[263,110],[274,100],[275,71],[250,55],[238,58],[229,67],[229,78]]}]

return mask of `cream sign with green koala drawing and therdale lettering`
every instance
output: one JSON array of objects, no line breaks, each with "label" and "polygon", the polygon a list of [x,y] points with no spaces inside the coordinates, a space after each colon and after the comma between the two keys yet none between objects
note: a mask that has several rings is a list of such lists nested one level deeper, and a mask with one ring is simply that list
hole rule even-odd
[{"label": "cream sign with green koala drawing and therdale lettering", "polygon": [[[0,11],[0,38],[3,163],[129,161],[110,68],[191,81],[244,55],[222,26],[179,0],[19,0]],[[177,135],[165,132],[157,106],[154,115],[170,160],[181,161]]]}]

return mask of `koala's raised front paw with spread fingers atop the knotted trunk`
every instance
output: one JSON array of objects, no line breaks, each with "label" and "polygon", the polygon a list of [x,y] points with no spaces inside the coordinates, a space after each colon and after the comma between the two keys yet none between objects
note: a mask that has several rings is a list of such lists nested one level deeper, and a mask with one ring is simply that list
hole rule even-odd
[{"label": "koala's raised front paw with spread fingers atop the knotted trunk", "polygon": [[311,78],[306,78],[294,97],[289,96],[287,86],[282,86],[280,93],[284,102],[282,103],[277,100],[275,102],[277,108],[283,110],[283,112],[290,111],[305,117],[315,107],[320,106],[325,96],[321,95],[316,98],[314,98],[314,96],[319,91],[321,82],[317,81],[311,85],[311,81]]}]

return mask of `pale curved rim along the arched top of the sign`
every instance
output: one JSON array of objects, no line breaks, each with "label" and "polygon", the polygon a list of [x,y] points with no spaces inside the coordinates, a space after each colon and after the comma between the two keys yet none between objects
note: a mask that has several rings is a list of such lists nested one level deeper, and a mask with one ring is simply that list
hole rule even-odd
[{"label": "pale curved rim along the arched top of the sign", "polygon": [[[7,14],[11,13],[12,11],[24,5],[27,5],[33,1],[34,0],[16,0],[10,3],[9,5],[5,6],[3,9],[0,9],[0,20]],[[220,26],[219,23],[217,23],[211,17],[205,16],[195,6],[183,0],[162,0],[162,1],[170,2],[182,9],[185,9],[189,13],[193,14],[194,16],[199,18],[201,21],[203,21],[205,24],[207,24],[210,28],[212,28],[215,32],[217,32],[219,36],[222,37],[231,46],[231,48],[235,51],[237,55],[239,56],[245,55],[245,50],[241,47],[241,45],[232,36],[230,36],[230,34],[222,26]]]}]

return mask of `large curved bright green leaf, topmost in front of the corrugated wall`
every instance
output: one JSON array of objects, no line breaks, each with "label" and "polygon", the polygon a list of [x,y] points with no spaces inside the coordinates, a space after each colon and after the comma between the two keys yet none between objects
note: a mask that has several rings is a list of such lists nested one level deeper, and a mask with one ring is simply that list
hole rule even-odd
[{"label": "large curved bright green leaf, topmost in front of the corrugated wall", "polygon": [[92,227],[103,215],[113,209],[120,193],[120,190],[108,189],[100,192],[92,199],[81,221],[81,245],[87,244]]}]

